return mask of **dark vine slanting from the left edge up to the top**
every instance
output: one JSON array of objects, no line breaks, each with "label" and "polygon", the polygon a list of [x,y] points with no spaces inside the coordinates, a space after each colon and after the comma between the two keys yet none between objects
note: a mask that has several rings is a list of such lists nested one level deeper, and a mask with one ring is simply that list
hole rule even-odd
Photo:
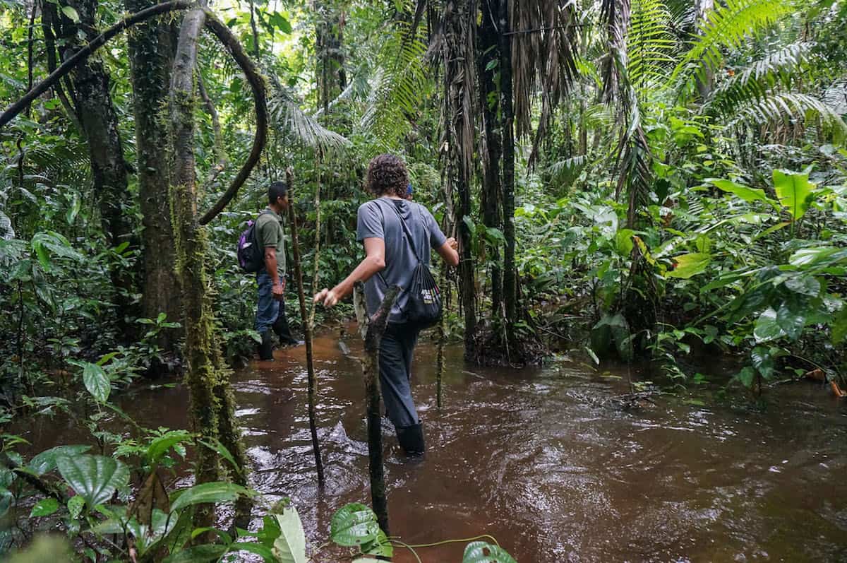
[{"label": "dark vine slanting from the left edge up to the top", "polygon": [[171,2],[156,4],[155,6],[141,10],[141,12],[138,12],[137,14],[130,15],[124,20],[120,20],[117,24],[92,39],[85,47],[82,47],[79,51],[74,53],[73,56],[61,64],[58,69],[50,73],[47,78],[39,82],[29,92],[26,92],[23,98],[20,98],[17,102],[10,105],[6,111],[0,115],[0,128],[2,128],[3,125],[6,125],[9,121],[14,120],[14,118],[30,103],[32,103],[34,99],[41,96],[44,92],[47,92],[47,90],[59,81],[59,79],[73,70],[77,64],[80,64],[81,61],[85,60],[86,57],[91,55],[91,53],[97,51],[97,49],[105,45],[108,40],[118,35],[121,31],[160,14],[166,14],[168,12],[173,12],[174,10],[191,8],[192,4],[193,2],[191,2],[191,0],[172,0]]}]

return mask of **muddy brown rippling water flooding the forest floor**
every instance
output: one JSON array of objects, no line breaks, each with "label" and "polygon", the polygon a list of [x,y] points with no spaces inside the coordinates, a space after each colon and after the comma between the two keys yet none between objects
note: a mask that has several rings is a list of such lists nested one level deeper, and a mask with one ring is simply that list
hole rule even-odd
[{"label": "muddy brown rippling water flooding the forest floor", "polygon": [[[329,537],[335,509],[369,504],[361,368],[337,342],[335,333],[315,342],[323,492],[305,350],[278,350],[233,382],[252,484],[293,500],[312,545]],[[346,343],[361,353],[357,338]],[[628,391],[624,371],[483,369],[447,347],[439,409],[435,354],[419,346],[413,370],[426,459],[410,463],[385,437],[391,532],[406,543],[488,533],[520,563],[847,561],[847,401],[822,387],[772,388],[762,411],[714,401],[706,387],[625,412],[604,404]],[[180,387],[142,390],[124,407],[145,426],[188,425]],[[55,421],[36,421],[27,437],[80,442]],[[418,554],[458,562],[463,545]],[[398,549],[395,560],[414,559]]]}]

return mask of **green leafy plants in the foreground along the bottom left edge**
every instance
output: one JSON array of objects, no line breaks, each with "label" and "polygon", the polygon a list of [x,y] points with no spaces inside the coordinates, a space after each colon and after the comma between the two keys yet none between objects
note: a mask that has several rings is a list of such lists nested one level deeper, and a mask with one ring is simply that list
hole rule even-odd
[{"label": "green leafy plants in the foreground along the bottom left edge", "polygon": [[[317,561],[320,552],[334,545],[349,551],[358,563],[390,559],[397,548],[412,550],[444,543],[468,543],[463,563],[514,563],[495,543],[479,541],[490,536],[408,545],[379,529],[374,511],[364,504],[346,504],[335,512],[329,543],[307,555],[306,535],[300,516],[291,504],[268,504],[256,532],[239,527],[223,530],[196,527],[194,512],[201,505],[230,504],[257,493],[230,482],[206,482],[167,491],[161,472],[174,466],[174,454],[185,457],[185,446],[215,450],[235,467],[232,456],[219,443],[206,443],[191,432],[159,429],[146,439],[126,440],[115,457],[89,454],[90,446],[64,445],[37,454],[29,462],[12,449],[18,440],[4,436],[5,459],[0,465],[0,518],[8,518],[20,501],[40,498],[26,513],[19,529],[62,529],[80,551],[75,561],[132,560],[137,563],[201,563],[237,561],[240,553],[260,556],[267,563]],[[141,485],[130,484],[130,465],[136,460]],[[239,471],[235,469],[235,471]],[[40,483],[35,490],[32,482]],[[67,494],[65,491],[72,491]],[[47,496],[44,496],[47,494]],[[130,501],[131,499],[131,501]],[[20,538],[0,533],[0,550]],[[38,543],[33,549],[41,549]],[[0,551],[2,552],[2,551]],[[415,553],[417,556],[417,554]]]}]

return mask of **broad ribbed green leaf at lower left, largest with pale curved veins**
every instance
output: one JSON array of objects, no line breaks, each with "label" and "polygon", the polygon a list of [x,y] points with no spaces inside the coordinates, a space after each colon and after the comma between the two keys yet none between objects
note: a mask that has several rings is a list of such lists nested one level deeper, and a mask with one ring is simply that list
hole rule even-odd
[{"label": "broad ribbed green leaf at lower left, largest with pale curved veins", "polygon": [[103,455],[58,456],[56,465],[70,488],[86,499],[89,509],[107,503],[130,480],[130,470],[123,462]]}]

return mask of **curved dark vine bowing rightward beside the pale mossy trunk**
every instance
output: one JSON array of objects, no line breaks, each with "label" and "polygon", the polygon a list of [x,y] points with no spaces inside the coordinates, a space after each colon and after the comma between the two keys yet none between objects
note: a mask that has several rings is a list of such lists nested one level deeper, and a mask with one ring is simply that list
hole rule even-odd
[{"label": "curved dark vine bowing rightward beside the pale mossy trunk", "polygon": [[258,163],[259,157],[262,156],[265,142],[268,139],[268,100],[262,75],[259,74],[256,64],[247,56],[244,47],[241,47],[241,43],[232,34],[230,28],[218,20],[211,10],[206,11],[206,18],[208,31],[211,31],[224,44],[224,47],[230,52],[235,62],[244,71],[247,81],[250,82],[250,87],[253,91],[253,101],[256,104],[256,135],[253,137],[253,147],[250,155],[241,166],[238,175],[235,176],[235,179],[230,184],[230,187],[227,188],[226,192],[224,192],[224,195],[212,206],[212,209],[209,209],[200,218],[201,225],[207,225],[209,221],[213,220],[224,210],[224,207],[232,201],[232,198],[235,198],[235,194],[244,185],[247,177],[250,176],[253,168]]}]

